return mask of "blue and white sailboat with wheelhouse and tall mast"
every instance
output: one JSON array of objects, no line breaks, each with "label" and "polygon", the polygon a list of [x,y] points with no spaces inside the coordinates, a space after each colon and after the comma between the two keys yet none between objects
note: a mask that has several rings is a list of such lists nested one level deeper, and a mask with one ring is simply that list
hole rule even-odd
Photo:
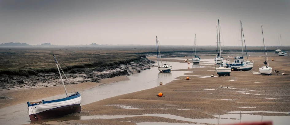
[{"label": "blue and white sailboat with wheelhouse and tall mast", "polygon": [[[243,38],[244,38],[244,43],[245,43],[247,60],[244,60]],[[230,68],[232,68],[233,70],[249,71],[253,68],[254,62],[250,62],[248,59],[245,36],[244,36],[244,31],[243,31],[243,26],[242,26],[242,20],[241,20],[241,39],[242,39],[242,56],[235,57],[234,62],[230,63]],[[228,59],[228,60],[232,60],[232,59]]]}]

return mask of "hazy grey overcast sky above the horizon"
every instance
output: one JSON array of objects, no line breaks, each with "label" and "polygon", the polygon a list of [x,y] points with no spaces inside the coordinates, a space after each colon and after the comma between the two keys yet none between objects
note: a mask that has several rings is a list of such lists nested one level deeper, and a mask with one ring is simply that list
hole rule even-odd
[{"label": "hazy grey overcast sky above the horizon", "polygon": [[290,0],[0,0],[0,44],[290,45]]}]

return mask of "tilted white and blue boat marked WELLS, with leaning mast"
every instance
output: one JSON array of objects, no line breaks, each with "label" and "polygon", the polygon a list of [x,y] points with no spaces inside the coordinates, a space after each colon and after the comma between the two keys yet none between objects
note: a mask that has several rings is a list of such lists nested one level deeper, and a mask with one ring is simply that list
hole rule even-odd
[{"label": "tilted white and blue boat marked WELLS, with leaning mast", "polygon": [[[56,62],[56,67],[58,73],[60,74],[59,64],[56,61],[56,57],[53,55],[53,58]],[[64,73],[64,71],[61,69]],[[66,75],[64,74],[66,77]],[[67,77],[66,77],[67,78]],[[64,80],[60,74],[60,79],[62,84],[64,85]],[[68,79],[68,78],[67,78]],[[39,102],[27,102],[29,118],[31,121],[43,120],[48,118],[54,118],[58,116],[64,116],[72,113],[80,113],[82,97],[79,92],[75,92],[74,94],[68,96],[67,90],[64,85],[64,90],[66,94],[66,98],[61,98],[57,100],[51,101],[39,101]]]}]

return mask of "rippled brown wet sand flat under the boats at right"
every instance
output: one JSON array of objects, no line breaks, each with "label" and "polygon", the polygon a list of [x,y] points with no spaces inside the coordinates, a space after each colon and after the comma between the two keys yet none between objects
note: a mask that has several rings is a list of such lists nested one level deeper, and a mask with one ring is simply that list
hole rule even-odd
[{"label": "rippled brown wet sand flat under the boats at right", "polygon": [[[203,59],[203,57],[201,57]],[[192,68],[166,85],[100,100],[82,106],[82,113],[66,121],[43,121],[45,124],[226,124],[247,121],[289,123],[289,57],[271,56],[270,76],[257,74],[263,64],[259,56],[250,56],[255,64],[250,71],[232,71],[230,76],[200,77],[214,74],[209,66]],[[170,60],[172,61],[172,60]],[[174,72],[174,70],[172,71]],[[282,75],[281,73],[285,73]],[[216,74],[214,74],[217,76]],[[189,77],[189,80],[185,80]],[[165,97],[157,97],[162,92]],[[71,119],[74,117],[73,119]],[[63,118],[62,120],[65,120]],[[41,122],[39,122],[41,123]]]}]

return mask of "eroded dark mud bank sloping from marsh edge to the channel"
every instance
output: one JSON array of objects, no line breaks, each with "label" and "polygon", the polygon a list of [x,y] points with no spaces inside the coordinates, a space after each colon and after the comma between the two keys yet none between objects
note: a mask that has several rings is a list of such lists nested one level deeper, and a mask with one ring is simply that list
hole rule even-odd
[{"label": "eroded dark mud bank sloping from marsh edge to the channel", "polygon": [[[105,66],[100,68],[75,68],[68,70],[66,76],[71,84],[83,82],[99,82],[101,79],[112,78],[118,76],[126,76],[133,73],[139,73],[142,70],[150,69],[152,61],[146,57],[140,57],[139,60],[130,62],[129,64],[120,64],[114,66]],[[63,77],[64,83],[68,84],[68,80]],[[38,73],[37,75],[18,76],[18,75],[0,75],[0,91],[1,90],[17,90],[22,88],[42,88],[59,86],[59,73]],[[7,98],[7,97],[1,97]]]}]

